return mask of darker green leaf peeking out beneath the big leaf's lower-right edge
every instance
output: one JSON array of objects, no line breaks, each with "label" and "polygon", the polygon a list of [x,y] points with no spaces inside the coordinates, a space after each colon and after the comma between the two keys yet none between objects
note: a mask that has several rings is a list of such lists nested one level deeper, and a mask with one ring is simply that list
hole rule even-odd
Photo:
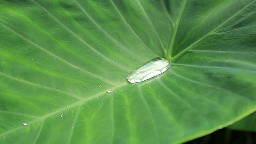
[{"label": "darker green leaf peeking out beneath the big leaf's lower-right edge", "polygon": [[243,131],[252,131],[256,132],[256,112],[246,116],[242,120],[228,126],[228,128],[233,130],[243,130]]}]

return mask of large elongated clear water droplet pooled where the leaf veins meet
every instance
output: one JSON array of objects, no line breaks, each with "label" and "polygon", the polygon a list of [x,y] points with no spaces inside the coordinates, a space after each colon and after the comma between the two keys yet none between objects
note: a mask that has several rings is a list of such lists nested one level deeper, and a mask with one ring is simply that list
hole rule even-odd
[{"label": "large elongated clear water droplet pooled where the leaf veins meet", "polygon": [[130,83],[142,82],[144,80],[148,80],[154,76],[162,74],[168,68],[172,66],[172,63],[167,58],[158,57],[154,58],[142,66],[133,70],[128,76],[127,80]]}]

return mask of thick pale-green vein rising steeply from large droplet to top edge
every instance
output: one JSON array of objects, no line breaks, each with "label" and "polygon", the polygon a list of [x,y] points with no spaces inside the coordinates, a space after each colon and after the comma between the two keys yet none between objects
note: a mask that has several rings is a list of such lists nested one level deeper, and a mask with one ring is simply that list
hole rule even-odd
[{"label": "thick pale-green vein rising steeply from large droplet to top edge", "polygon": [[182,16],[182,13],[183,13],[184,8],[186,6],[186,2],[187,2],[187,0],[184,0],[182,2],[181,6],[180,6],[180,12],[179,12],[178,18],[176,19],[176,22],[174,24],[174,27],[173,27],[173,30],[172,30],[172,35],[170,36],[169,45],[168,45],[168,49],[167,49],[167,53],[166,53],[165,57],[168,58],[171,61],[172,61],[172,49],[173,49],[173,46],[174,46],[175,37],[176,37],[178,26],[179,26],[179,23],[180,23],[180,18]]}]

